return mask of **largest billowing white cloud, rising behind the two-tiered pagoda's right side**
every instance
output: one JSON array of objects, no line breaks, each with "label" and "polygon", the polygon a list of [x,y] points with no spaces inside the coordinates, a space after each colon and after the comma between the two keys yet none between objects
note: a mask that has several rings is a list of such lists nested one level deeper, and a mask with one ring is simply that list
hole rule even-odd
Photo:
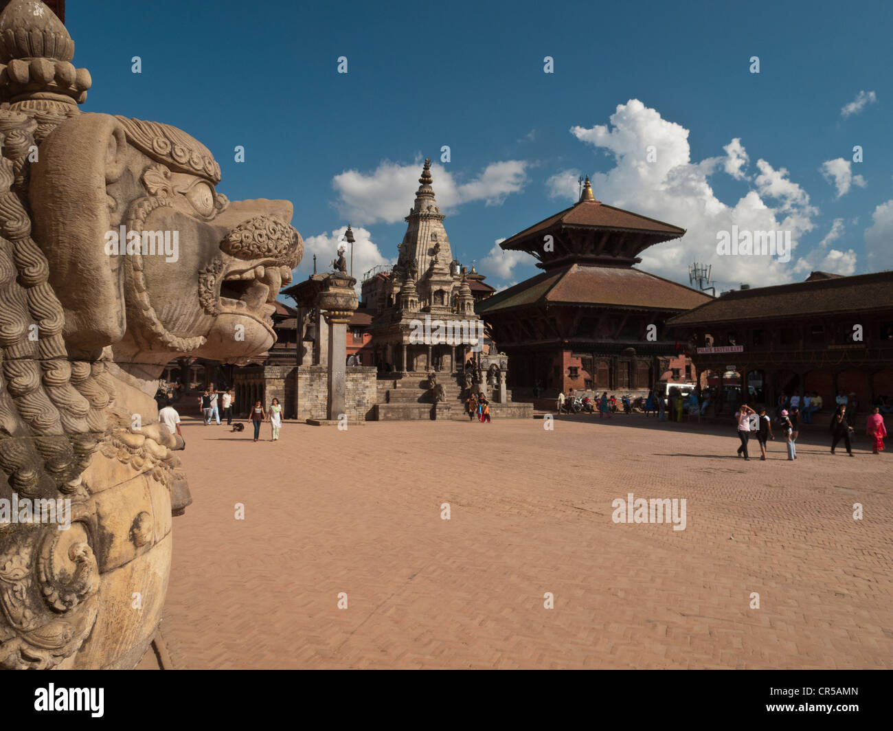
[{"label": "largest billowing white cloud, rising behind the two-tiered pagoda's right side", "polygon": [[[688,232],[682,239],[647,248],[642,268],[681,281],[692,261],[713,265],[721,289],[747,282],[752,286],[792,281],[795,272],[772,256],[720,256],[717,233],[730,231],[790,231],[792,248],[814,229],[818,210],[789,172],[776,170],[767,161],[757,160],[757,173],[750,189],[739,200],[720,200],[710,185],[710,176],[728,174],[738,180],[745,175],[749,158],[739,138],[724,147],[726,155],[699,162],[691,159],[689,130],[669,122],[655,109],[638,99],[618,105],[609,125],[590,129],[572,127],[572,134],[594,147],[613,154],[614,166],[593,176],[596,197],[667,223]],[[653,145],[656,160],[647,162],[647,147]],[[547,183],[556,195],[576,199],[576,186],[569,181],[573,171],[556,173]],[[575,180],[575,179],[574,179]],[[793,261],[793,258],[792,258]]]}]

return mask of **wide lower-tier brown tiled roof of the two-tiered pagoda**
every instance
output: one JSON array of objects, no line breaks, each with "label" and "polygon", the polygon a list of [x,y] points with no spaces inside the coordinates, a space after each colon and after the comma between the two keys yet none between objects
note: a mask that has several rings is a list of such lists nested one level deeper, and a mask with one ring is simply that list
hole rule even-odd
[{"label": "wide lower-tier brown tiled roof of the two-tiered pagoda", "polygon": [[710,297],[675,281],[622,266],[565,265],[480,302],[480,315],[537,302],[687,310]]}]

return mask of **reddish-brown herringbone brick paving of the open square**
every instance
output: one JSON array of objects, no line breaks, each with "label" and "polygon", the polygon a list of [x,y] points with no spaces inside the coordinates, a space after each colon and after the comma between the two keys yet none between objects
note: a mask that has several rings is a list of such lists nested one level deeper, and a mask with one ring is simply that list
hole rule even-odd
[{"label": "reddish-brown herringbone brick paving of the open square", "polygon": [[[893,666],[891,451],[831,456],[821,430],[746,462],[733,426],[543,426],[286,422],[255,444],[185,420],[173,666]],[[628,492],[685,498],[686,529],[614,524]]]}]

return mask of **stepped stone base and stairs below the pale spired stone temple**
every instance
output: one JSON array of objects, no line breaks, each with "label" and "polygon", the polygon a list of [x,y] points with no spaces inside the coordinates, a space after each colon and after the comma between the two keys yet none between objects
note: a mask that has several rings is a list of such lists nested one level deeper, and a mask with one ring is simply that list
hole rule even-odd
[{"label": "stepped stone base and stairs below the pale spired stone temple", "polygon": [[[452,374],[438,374],[438,382],[444,387],[445,400],[434,403],[428,388],[428,374],[410,373],[403,377],[380,378],[378,403],[372,418],[377,421],[413,421],[423,419],[455,419],[468,421],[465,414],[464,391]],[[505,391],[507,403],[494,403],[490,399],[490,418],[531,418],[533,404],[515,403],[512,392]]]}]

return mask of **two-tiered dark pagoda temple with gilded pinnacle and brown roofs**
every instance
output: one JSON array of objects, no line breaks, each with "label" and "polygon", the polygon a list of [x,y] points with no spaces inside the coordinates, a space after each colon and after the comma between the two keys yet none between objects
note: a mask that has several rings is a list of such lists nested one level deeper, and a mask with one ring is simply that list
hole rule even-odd
[{"label": "two-tiered dark pagoda temple with gilded pinnacle and brown roofs", "polygon": [[476,307],[509,357],[508,385],[653,388],[680,350],[666,321],[711,298],[634,265],[646,248],[684,233],[598,201],[587,176],[576,205],[503,241],[544,270]]}]

